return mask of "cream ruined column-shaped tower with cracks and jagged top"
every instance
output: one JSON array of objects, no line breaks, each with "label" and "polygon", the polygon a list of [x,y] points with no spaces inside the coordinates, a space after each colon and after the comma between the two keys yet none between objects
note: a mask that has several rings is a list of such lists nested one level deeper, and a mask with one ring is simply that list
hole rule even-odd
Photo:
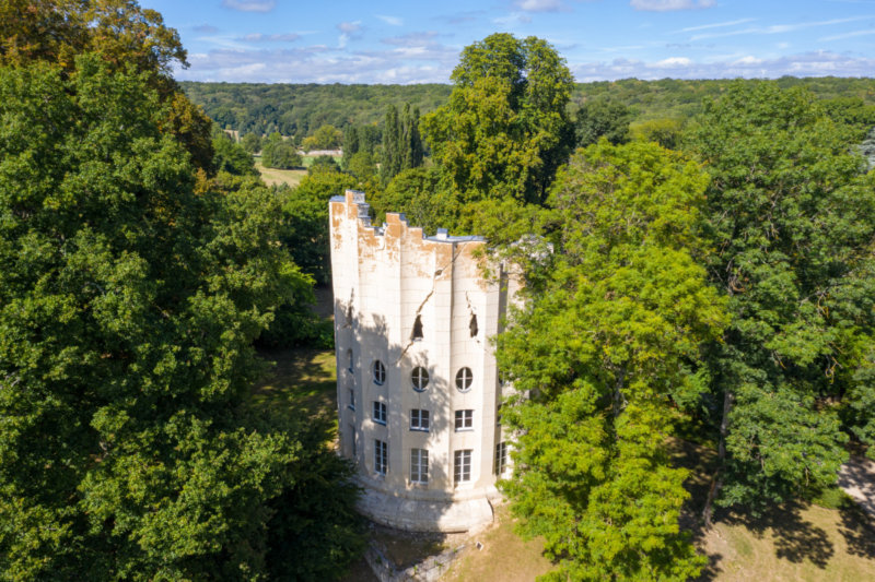
[{"label": "cream ruined column-shaped tower with cracks and jagged top", "polygon": [[424,237],[392,213],[371,226],[351,190],[329,204],[340,452],[361,511],[411,531],[491,522],[510,459],[489,337],[516,280],[481,275],[480,237]]}]

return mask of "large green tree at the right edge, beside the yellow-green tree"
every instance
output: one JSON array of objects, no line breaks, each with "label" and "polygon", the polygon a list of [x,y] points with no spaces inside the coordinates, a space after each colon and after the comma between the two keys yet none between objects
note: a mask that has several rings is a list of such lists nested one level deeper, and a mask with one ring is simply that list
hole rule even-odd
[{"label": "large green tree at the right edge, beside the yellow-green tree", "polygon": [[709,357],[707,522],[715,499],[756,509],[835,484],[849,403],[847,428],[872,442],[875,190],[852,132],[807,91],[757,82],[709,102],[690,134],[712,177],[709,275],[733,314]]}]

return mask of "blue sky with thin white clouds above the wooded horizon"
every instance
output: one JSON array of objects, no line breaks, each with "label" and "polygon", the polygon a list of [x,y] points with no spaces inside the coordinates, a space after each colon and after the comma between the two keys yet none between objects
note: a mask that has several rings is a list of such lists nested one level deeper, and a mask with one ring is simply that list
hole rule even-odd
[{"label": "blue sky with thin white clouds above the wooded horizon", "polygon": [[875,76],[875,0],[140,0],[188,49],[177,79],[446,83],[463,47],[538,36],[580,82]]}]

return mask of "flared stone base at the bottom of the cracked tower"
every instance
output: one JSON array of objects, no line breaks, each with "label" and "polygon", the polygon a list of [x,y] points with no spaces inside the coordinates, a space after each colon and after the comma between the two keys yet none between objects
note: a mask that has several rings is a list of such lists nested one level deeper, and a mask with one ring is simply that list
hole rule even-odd
[{"label": "flared stone base at the bottom of the cracked tower", "polygon": [[408,532],[467,532],[493,520],[492,503],[487,497],[455,501],[410,499],[366,486],[357,509],[381,525]]}]

